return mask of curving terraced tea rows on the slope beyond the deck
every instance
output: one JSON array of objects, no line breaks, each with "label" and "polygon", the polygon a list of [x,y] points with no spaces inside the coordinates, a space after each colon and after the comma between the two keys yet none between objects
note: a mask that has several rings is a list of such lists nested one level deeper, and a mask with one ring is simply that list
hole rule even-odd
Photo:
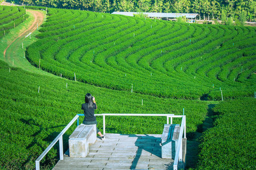
[{"label": "curving terraced tea rows on the slope beyond the deck", "polygon": [[[253,96],[254,27],[49,10],[27,49],[32,65],[68,79],[173,99]],[[75,19],[74,19],[75,18]]]}]

